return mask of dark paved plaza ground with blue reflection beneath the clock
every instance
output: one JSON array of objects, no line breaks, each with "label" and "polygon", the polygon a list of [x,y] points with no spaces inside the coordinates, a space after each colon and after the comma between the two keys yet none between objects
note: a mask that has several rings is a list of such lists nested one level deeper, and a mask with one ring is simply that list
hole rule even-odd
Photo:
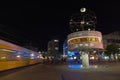
[{"label": "dark paved plaza ground with blue reflection beneath the clock", "polygon": [[120,80],[120,63],[79,65],[37,64],[0,72],[0,80]]}]

